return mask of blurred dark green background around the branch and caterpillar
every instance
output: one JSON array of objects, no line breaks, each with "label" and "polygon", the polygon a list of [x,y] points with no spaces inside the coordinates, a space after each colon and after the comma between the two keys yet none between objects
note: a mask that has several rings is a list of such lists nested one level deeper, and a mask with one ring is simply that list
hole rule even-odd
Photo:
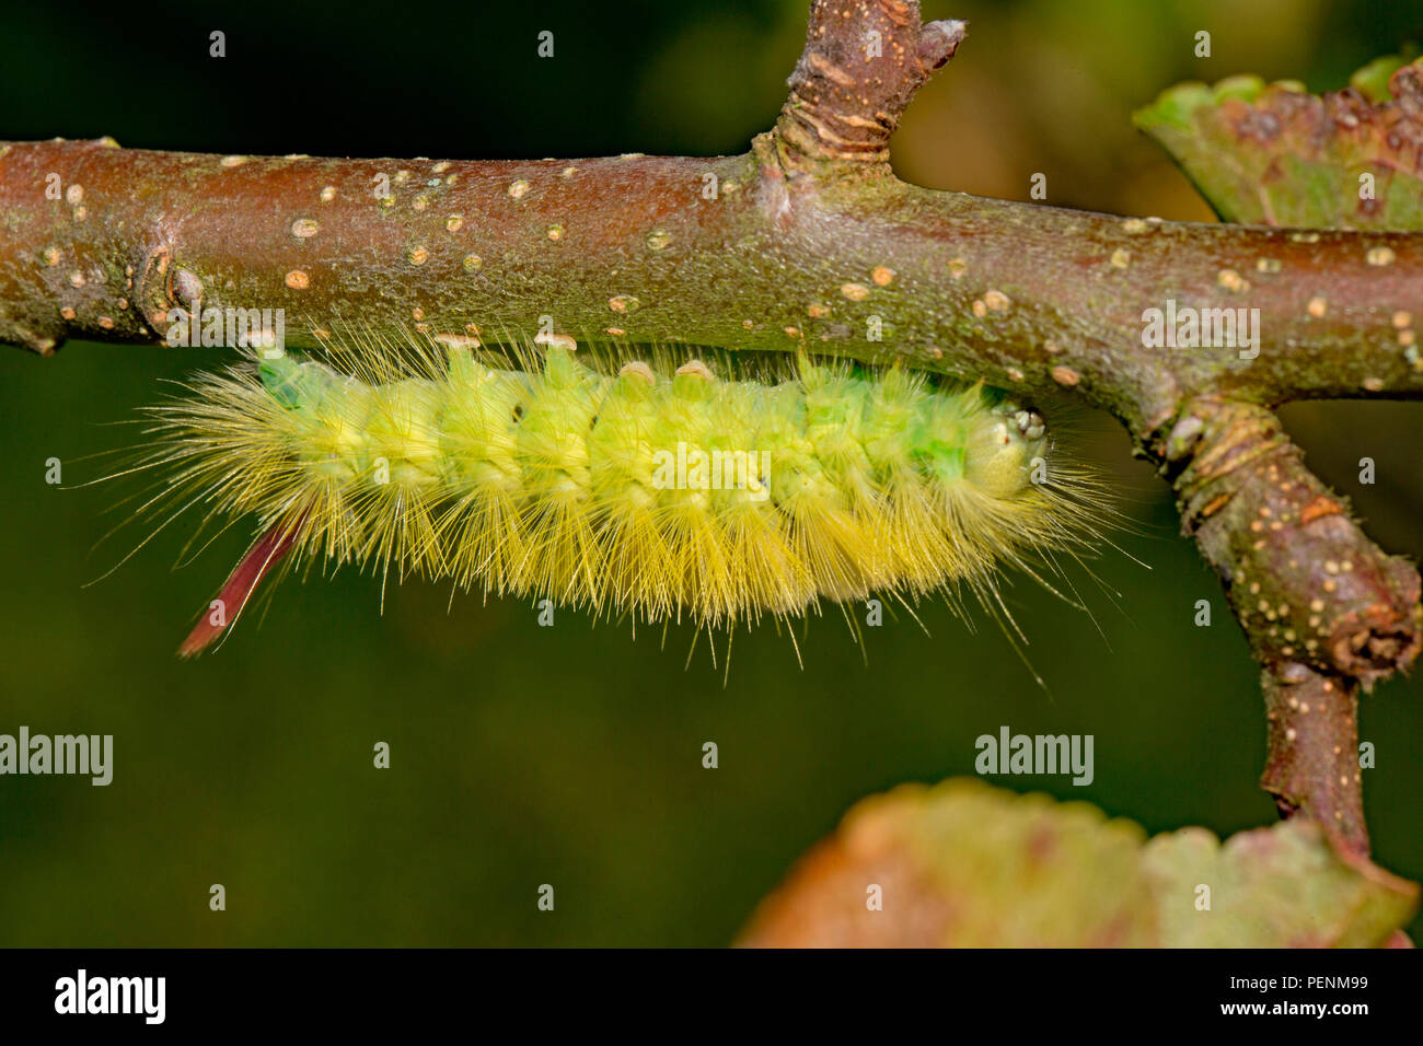
[{"label": "blurred dark green background around the branch and caterpillar", "polygon": [[[522,158],[740,152],[770,125],[804,0],[7,10],[0,138],[114,135],[209,152]],[[931,1],[972,21],[895,138],[911,181],[1123,215],[1210,221],[1131,110],[1234,73],[1311,90],[1405,40],[1423,3]],[[208,57],[226,33],[228,57]],[[555,58],[535,54],[541,30]],[[1194,56],[1211,33],[1212,57]],[[174,569],[165,532],[97,549],[134,487],[75,488],[137,441],[114,426],[213,366],[212,350],[0,349],[0,733],[114,734],[114,783],[0,778],[0,944],[720,945],[868,793],[973,773],[979,734],[1096,737],[1096,780],[990,778],[1086,798],[1148,831],[1274,820],[1257,672],[1168,491],[1110,418],[1069,443],[1111,477],[1131,532],[1076,581],[1090,615],[1027,579],[1007,601],[1040,687],[982,612],[887,616],[857,646],[837,608],[703,639],[554,628],[519,601],[354,572],[287,582],[216,656],[174,649],[242,554],[233,528]],[[1308,404],[1286,423],[1385,548],[1423,554],[1423,404]],[[44,482],[63,461],[67,490]],[[1377,463],[1360,485],[1358,461]],[[90,458],[90,460],[85,460]],[[1134,562],[1136,561],[1141,561]],[[1144,565],[1143,565],[1144,564]],[[1192,625],[1197,599],[1214,625]],[[1423,878],[1423,687],[1363,702],[1376,860]],[[373,767],[387,741],[391,767]],[[720,766],[702,767],[702,746]],[[225,912],[208,908],[211,884]],[[536,909],[552,884],[554,912]],[[1414,936],[1423,924],[1414,924]]]}]

